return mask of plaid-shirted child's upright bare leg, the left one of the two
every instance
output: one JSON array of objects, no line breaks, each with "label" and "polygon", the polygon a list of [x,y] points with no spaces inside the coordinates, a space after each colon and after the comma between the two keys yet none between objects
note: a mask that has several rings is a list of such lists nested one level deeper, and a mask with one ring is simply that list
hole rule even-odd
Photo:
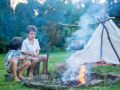
[{"label": "plaid-shirted child's upright bare leg, the left one of the two", "polygon": [[13,71],[13,75],[14,75],[14,80],[16,80],[16,81],[20,81],[20,79],[18,78],[18,76],[17,76],[17,59],[13,59],[12,61],[11,61],[11,63],[12,63],[12,71]]}]

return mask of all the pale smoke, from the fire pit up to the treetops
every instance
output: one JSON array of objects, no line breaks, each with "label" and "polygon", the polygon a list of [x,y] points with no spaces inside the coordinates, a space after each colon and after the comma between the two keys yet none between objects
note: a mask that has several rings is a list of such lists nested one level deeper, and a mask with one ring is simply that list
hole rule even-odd
[{"label": "all the pale smoke, from the fire pit up to the treetops", "polygon": [[[86,3],[88,5],[88,3]],[[91,38],[93,32],[95,31],[95,26],[98,24],[98,18],[106,18],[108,16],[107,13],[107,3],[100,4],[100,3],[90,3],[89,6],[87,6],[84,14],[79,18],[78,25],[80,26],[80,29],[78,29],[76,32],[72,34],[71,37],[67,38],[67,50],[75,51],[78,49],[83,49],[84,46],[87,44],[89,39]],[[77,57],[75,57],[77,58]],[[74,59],[75,59],[74,58]],[[79,74],[80,70],[80,61],[66,60],[66,63],[68,63],[67,71],[63,74],[62,80],[66,81],[66,78],[74,77]],[[70,64],[69,64],[70,63]],[[75,78],[75,77],[74,77]]]}]

